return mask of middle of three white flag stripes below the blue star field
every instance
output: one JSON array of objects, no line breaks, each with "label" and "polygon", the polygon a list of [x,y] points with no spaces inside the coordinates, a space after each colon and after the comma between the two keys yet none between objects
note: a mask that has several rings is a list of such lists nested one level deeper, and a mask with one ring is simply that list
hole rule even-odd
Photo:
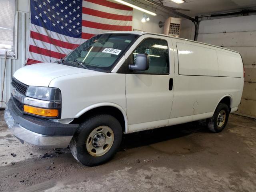
[{"label": "middle of three white flag stripes below the blue star field", "polygon": [[50,43],[46,43],[46,42],[36,40],[36,39],[33,39],[33,38],[30,38],[30,45],[34,45],[34,46],[37,46],[37,47],[40,47],[40,48],[44,48],[44,49],[47,49],[47,50],[51,50],[51,51],[66,54],[66,55],[69,54],[72,51],[72,49],[66,49],[66,48],[59,47],[59,46],[56,46],[56,45],[52,45]]}]

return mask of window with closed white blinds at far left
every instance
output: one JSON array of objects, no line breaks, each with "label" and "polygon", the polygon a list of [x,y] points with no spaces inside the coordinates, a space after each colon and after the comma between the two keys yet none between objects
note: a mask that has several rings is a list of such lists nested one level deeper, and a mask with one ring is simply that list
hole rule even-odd
[{"label": "window with closed white blinds at far left", "polygon": [[15,56],[15,0],[0,0],[0,56]]}]

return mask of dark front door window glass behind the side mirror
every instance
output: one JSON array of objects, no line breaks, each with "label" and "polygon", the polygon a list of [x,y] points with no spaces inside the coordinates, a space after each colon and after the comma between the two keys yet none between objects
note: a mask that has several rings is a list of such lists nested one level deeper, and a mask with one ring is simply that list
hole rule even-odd
[{"label": "dark front door window glass behind the side mirror", "polygon": [[166,40],[148,38],[132,52],[130,62],[135,64],[137,54],[148,54],[149,68],[145,71],[133,71],[133,74],[169,74],[169,54]]}]

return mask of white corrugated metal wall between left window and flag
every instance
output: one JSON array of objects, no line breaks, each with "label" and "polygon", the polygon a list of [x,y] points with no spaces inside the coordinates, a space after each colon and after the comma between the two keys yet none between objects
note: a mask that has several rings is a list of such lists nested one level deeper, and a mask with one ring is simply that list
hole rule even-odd
[{"label": "white corrugated metal wall between left window and flag", "polygon": [[[7,102],[11,96],[10,83],[12,80],[12,75],[16,70],[21,68],[26,59],[26,50],[29,34],[29,15],[26,12],[17,12],[17,22],[18,22],[18,36],[17,36],[17,59],[7,59],[6,60],[6,71],[5,71],[5,81],[4,81],[4,96],[3,101]],[[5,59],[0,58],[0,100],[2,97],[2,86],[4,79],[4,63]],[[0,107],[5,107],[5,104],[0,102]]]}]

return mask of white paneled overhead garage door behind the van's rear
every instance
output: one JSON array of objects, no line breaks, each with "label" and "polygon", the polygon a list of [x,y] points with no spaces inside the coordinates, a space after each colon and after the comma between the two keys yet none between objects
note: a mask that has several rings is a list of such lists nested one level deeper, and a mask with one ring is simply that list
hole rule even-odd
[{"label": "white paneled overhead garage door behind the van's rear", "polygon": [[240,52],[245,82],[238,113],[256,117],[256,15],[204,20],[198,41]]}]

